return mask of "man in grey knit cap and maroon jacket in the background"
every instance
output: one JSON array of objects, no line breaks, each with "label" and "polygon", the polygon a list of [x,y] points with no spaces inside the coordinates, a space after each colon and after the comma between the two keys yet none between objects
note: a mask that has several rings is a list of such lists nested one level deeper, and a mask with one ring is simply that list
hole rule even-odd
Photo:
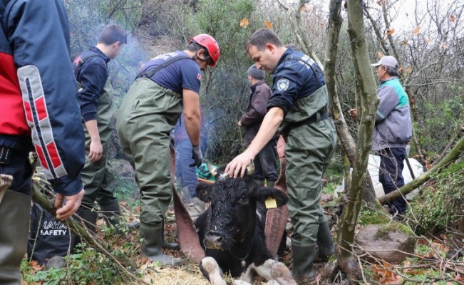
[{"label": "man in grey knit cap and maroon jacket in the background", "polygon": [[[258,133],[264,115],[267,113],[267,101],[272,93],[271,88],[264,82],[265,73],[254,64],[248,68],[248,81],[252,93],[249,95],[247,112],[242,115],[238,125],[245,128],[244,145],[248,146]],[[267,182],[267,187],[274,187],[277,180],[277,145],[278,135],[254,157],[254,180],[260,185]]]}]

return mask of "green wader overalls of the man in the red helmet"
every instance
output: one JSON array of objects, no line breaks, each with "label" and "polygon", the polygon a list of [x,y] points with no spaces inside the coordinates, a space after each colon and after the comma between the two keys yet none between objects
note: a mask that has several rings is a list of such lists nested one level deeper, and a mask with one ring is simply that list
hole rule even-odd
[{"label": "green wader overalls of the man in the red helmet", "polygon": [[140,187],[140,222],[148,226],[160,226],[172,197],[170,132],[181,111],[182,95],[139,78],[118,113],[116,130]]}]

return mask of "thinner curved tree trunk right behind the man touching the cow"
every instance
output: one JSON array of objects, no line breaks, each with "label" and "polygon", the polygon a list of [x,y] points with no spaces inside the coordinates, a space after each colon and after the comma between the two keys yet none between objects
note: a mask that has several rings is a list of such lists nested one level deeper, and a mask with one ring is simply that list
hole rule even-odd
[{"label": "thinner curved tree trunk right behind the man touching the cow", "polygon": [[[348,131],[346,120],[341,110],[339,94],[336,90],[336,55],[339,48],[339,34],[343,19],[340,16],[341,1],[331,0],[329,11],[329,29],[327,31],[326,56],[324,58],[324,78],[326,79],[327,91],[329,92],[329,108],[334,118],[336,133],[339,143],[349,159],[349,164],[353,165],[356,158],[356,143]],[[349,167],[348,167],[349,169]],[[345,175],[345,192],[348,192],[351,185],[351,177]],[[363,182],[363,200],[369,207],[375,207],[377,204],[376,192],[373,190],[371,177],[366,175]]]}]

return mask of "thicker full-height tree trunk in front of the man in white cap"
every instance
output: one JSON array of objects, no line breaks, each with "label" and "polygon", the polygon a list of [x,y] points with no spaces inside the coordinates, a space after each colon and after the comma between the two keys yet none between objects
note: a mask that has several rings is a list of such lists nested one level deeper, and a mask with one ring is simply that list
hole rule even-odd
[{"label": "thicker full-height tree trunk in front of the man in white cap", "polygon": [[358,221],[362,205],[364,180],[366,179],[368,155],[372,147],[372,133],[375,125],[375,114],[378,105],[376,81],[373,78],[371,63],[366,44],[366,28],[361,10],[360,0],[348,0],[348,26],[353,51],[356,90],[359,90],[360,105],[356,106],[359,116],[358,142],[356,144],[356,160],[351,175],[351,189],[348,193],[337,237],[339,266],[351,281],[361,278],[361,269],[354,257],[354,229]]}]

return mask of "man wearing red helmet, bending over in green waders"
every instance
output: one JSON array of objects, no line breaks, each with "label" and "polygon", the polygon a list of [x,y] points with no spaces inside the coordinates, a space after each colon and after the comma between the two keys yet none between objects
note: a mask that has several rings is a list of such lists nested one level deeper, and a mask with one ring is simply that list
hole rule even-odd
[{"label": "man wearing red helmet, bending over in green waders", "polygon": [[163,217],[172,197],[170,132],[183,102],[181,122],[192,142],[192,166],[201,165],[201,71],[215,66],[219,58],[219,45],[207,34],[190,38],[184,51],[156,56],[138,73],[118,113],[120,144],[140,188],[142,254],[164,265],[180,264],[180,259],[163,254],[162,249]]}]

